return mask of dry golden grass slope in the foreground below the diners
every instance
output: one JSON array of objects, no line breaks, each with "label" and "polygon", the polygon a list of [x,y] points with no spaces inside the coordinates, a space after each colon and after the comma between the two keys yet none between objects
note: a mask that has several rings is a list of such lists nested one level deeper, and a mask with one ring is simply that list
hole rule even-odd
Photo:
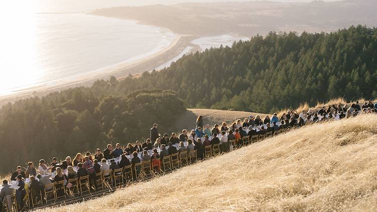
[{"label": "dry golden grass slope in the foreground below the diners", "polygon": [[40,211],[376,211],[377,116],[314,124]]}]

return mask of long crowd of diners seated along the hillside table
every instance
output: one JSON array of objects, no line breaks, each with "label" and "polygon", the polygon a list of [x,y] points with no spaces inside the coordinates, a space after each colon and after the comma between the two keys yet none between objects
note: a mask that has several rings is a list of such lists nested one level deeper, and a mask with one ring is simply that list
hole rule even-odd
[{"label": "long crowd of diners seated along the hillside table", "polygon": [[[21,166],[11,175],[11,182],[17,184],[16,199],[20,208],[25,205],[24,198],[26,195],[25,183],[28,184],[28,191],[39,193],[45,186],[46,189],[52,189],[52,183],[65,180],[65,186],[69,186],[70,179],[80,180],[80,177],[88,176],[90,187],[97,189],[97,173],[102,173],[104,177],[108,177],[111,170],[125,168],[129,165],[134,166],[141,161],[150,161],[153,165],[161,165],[164,157],[169,157],[172,154],[187,151],[187,154],[196,150],[198,160],[205,158],[206,146],[215,144],[220,145],[221,152],[231,151],[232,146],[230,141],[235,140],[237,146],[241,146],[240,142],[243,137],[264,135],[269,133],[274,135],[274,132],[280,130],[287,130],[291,128],[298,128],[304,125],[326,122],[331,120],[341,120],[345,118],[355,117],[361,113],[377,113],[377,103],[373,104],[371,101],[363,103],[360,107],[359,102],[352,103],[350,106],[328,105],[323,106],[318,111],[287,111],[281,116],[273,114],[272,117],[268,115],[263,117],[249,116],[243,121],[238,119],[236,122],[228,124],[222,123],[221,126],[215,124],[212,128],[210,125],[205,125],[204,118],[199,116],[196,121],[196,128],[190,132],[182,130],[178,135],[161,134],[158,132],[158,125],[153,124],[150,129],[150,137],[143,143],[136,141],[134,144],[127,144],[122,146],[120,143],[115,145],[108,144],[106,149],[98,148],[95,153],[85,154],[77,153],[73,160],[67,156],[65,160],[58,161],[57,158],[52,158],[50,163],[46,163],[41,159],[38,168],[35,168],[33,162],[28,163],[28,167],[23,171]],[[151,154],[150,154],[151,153]],[[116,160],[120,158],[120,160]],[[157,160],[157,159],[160,160]],[[110,164],[108,161],[110,160]],[[52,174],[53,173],[53,174]],[[27,180],[26,180],[27,179]],[[0,198],[2,202],[14,193],[14,187],[8,184],[8,180],[3,181]],[[37,198],[29,195],[29,198]],[[1,207],[0,207],[1,208]]]}]

